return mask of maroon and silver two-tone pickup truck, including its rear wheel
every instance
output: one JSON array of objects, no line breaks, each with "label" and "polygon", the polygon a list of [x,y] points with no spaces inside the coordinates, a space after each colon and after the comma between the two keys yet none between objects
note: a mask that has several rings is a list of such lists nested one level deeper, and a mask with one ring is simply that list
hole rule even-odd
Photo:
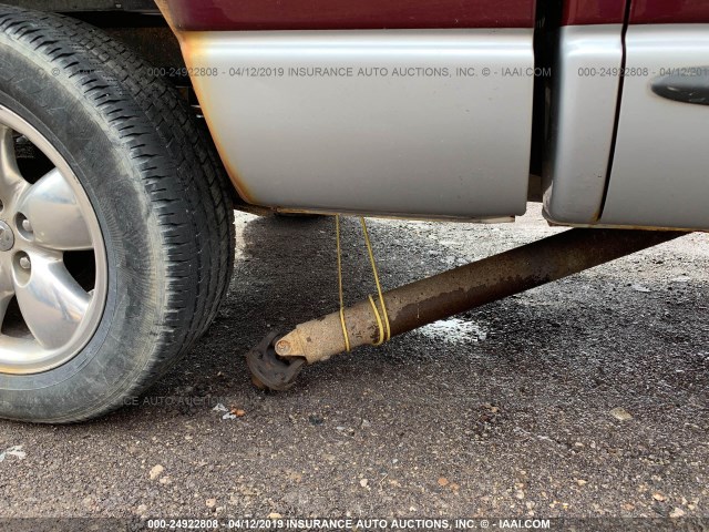
[{"label": "maroon and silver two-tone pickup truck, including its rear wheel", "polygon": [[[505,267],[567,265],[707,231],[708,146],[706,0],[0,0],[0,417],[90,419],[164,374],[225,297],[234,208],[502,223],[542,202],[604,237]],[[289,335],[256,358],[432,308],[403,325],[394,296],[377,326],[318,321],[342,325],[326,354]]]}]

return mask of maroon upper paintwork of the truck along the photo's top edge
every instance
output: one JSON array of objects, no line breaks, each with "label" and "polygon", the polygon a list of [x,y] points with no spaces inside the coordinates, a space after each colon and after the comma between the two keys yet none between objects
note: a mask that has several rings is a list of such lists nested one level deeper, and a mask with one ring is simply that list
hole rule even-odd
[{"label": "maroon upper paintwork of the truck along the photo's top edge", "polygon": [[[532,28],[534,0],[167,0],[185,31]],[[566,0],[563,25],[624,21],[623,0]],[[631,23],[709,21],[705,0],[636,0]]]}]

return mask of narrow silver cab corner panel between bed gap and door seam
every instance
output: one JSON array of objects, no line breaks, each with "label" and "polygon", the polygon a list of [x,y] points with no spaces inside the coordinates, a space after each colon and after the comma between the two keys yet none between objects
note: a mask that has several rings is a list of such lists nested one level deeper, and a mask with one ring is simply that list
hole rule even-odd
[{"label": "narrow silver cab corner panel between bed gap and door seam", "polygon": [[544,214],[592,223],[600,213],[623,59],[620,24],[562,28],[552,92]]}]

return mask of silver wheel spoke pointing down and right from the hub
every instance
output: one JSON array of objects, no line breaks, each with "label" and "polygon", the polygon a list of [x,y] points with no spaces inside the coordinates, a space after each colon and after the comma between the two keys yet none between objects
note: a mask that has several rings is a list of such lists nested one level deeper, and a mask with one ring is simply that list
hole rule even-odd
[{"label": "silver wheel spoke pointing down and right from the hub", "polygon": [[14,283],[24,323],[42,347],[52,349],[69,341],[89,308],[91,296],[63,262],[33,254],[31,269],[16,272]]}]

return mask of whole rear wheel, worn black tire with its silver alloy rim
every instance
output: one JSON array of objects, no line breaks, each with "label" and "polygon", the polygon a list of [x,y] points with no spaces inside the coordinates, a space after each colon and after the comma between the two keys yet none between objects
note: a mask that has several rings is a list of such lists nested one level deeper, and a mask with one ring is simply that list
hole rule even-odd
[{"label": "whole rear wheel, worn black tire with its silver alloy rim", "polygon": [[0,6],[0,417],[124,405],[206,330],[227,180],[167,83],[76,20]]}]

